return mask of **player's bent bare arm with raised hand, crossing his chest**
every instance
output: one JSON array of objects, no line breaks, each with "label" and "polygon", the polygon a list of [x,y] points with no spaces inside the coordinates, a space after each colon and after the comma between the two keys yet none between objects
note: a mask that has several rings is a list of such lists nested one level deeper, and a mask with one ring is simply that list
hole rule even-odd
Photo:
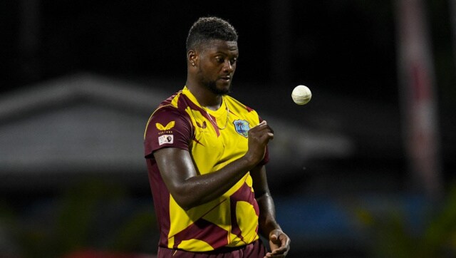
[{"label": "player's bent bare arm with raised hand, crossing his chest", "polygon": [[261,122],[249,130],[249,149],[238,160],[234,160],[220,170],[198,175],[192,157],[187,150],[180,148],[162,148],[153,153],[167,189],[178,205],[185,210],[202,205],[205,202],[227,192],[248,171],[252,170],[264,158],[266,145],[274,138],[274,133]]}]

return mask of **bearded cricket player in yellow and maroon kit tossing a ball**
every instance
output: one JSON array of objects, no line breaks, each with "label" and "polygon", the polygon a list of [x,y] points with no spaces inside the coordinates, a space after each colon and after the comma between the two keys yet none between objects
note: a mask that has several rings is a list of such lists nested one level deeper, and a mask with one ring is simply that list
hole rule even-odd
[{"label": "bearded cricket player in yellow and maroon kit tossing a ball", "polygon": [[198,19],[187,37],[186,86],[147,123],[158,257],[285,257],[289,251],[264,168],[273,131],[227,95],[238,56],[231,24]]}]

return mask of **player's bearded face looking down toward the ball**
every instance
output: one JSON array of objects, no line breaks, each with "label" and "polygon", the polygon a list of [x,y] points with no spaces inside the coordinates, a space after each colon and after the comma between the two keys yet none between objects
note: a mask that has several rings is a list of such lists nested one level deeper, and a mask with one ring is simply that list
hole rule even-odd
[{"label": "player's bearded face looking down toward the ball", "polygon": [[239,51],[236,41],[210,41],[197,54],[199,82],[217,95],[229,93]]}]

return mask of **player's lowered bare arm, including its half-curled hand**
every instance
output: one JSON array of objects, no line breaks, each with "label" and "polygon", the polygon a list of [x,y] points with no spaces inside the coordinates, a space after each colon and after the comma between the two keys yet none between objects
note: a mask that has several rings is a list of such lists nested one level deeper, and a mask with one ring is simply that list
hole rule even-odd
[{"label": "player's lowered bare arm, including its half-curled hand", "polygon": [[271,252],[266,257],[285,257],[290,249],[290,238],[276,222],[276,209],[266,179],[266,168],[259,165],[250,171],[259,207],[259,229],[269,239]]}]

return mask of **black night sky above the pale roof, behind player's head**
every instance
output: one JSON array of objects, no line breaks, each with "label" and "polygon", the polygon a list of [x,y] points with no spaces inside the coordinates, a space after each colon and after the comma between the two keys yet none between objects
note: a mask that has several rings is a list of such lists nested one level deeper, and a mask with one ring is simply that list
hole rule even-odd
[{"label": "black night sky above the pale roof, behind player's head", "polygon": [[[21,1],[2,2],[0,26],[9,38],[1,41],[2,91],[75,71],[184,81],[187,31],[199,16],[214,15],[239,32],[235,80],[266,87],[307,83],[397,101],[392,4],[289,1],[289,6],[283,28],[289,36],[281,38],[271,31],[272,1],[38,1],[32,22],[36,41],[28,51]],[[283,65],[274,42],[286,48],[285,78],[274,76],[274,67]]]}]

